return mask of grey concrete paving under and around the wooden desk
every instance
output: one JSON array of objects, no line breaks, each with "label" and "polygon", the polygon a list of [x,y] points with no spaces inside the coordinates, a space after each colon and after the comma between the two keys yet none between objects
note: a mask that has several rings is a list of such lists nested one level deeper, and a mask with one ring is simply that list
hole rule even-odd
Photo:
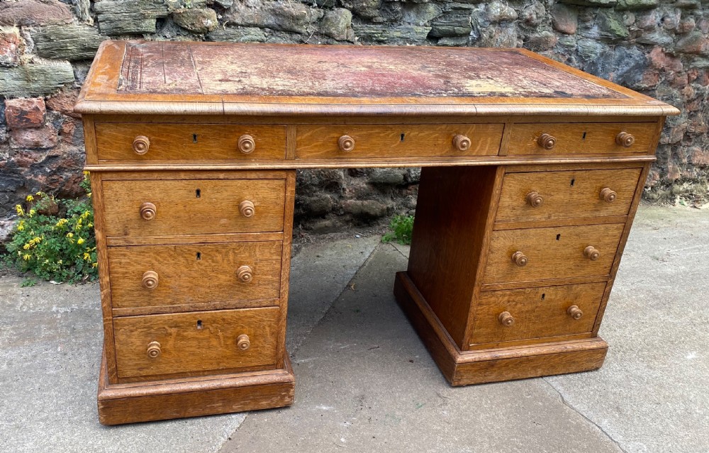
[{"label": "grey concrete paving under and around the wooden desk", "polygon": [[96,415],[96,284],[0,277],[0,452],[708,452],[708,252],[708,211],[641,208],[602,369],[452,388],[391,294],[407,247],[303,245],[293,406],[118,427]]}]

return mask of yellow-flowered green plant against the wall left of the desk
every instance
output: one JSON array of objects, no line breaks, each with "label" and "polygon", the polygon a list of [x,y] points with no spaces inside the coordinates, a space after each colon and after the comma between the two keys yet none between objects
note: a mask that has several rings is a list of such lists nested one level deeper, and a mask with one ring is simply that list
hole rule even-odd
[{"label": "yellow-flowered green plant against the wall left of the desk", "polygon": [[84,172],[81,184],[85,198],[64,200],[37,192],[27,196],[27,211],[15,206],[20,220],[6,244],[9,265],[45,280],[74,283],[96,279],[94,208],[88,176]]}]

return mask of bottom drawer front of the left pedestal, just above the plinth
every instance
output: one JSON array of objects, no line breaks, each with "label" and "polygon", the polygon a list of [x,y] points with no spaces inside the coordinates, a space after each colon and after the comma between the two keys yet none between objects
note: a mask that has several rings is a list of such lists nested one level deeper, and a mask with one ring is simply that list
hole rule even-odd
[{"label": "bottom drawer front of the left pedestal, just above the plinth", "polygon": [[274,365],[278,318],[277,307],[114,318],[118,377]]}]

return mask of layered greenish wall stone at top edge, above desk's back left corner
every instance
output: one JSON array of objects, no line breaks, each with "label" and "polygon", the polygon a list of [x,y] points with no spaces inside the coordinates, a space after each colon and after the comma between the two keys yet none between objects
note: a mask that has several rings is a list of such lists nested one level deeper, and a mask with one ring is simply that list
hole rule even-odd
[{"label": "layered greenish wall stone at top edge, above desk's back left corner", "polygon": [[94,3],[101,34],[135,35],[155,33],[156,19],[167,17],[168,4],[162,0],[103,0]]}]

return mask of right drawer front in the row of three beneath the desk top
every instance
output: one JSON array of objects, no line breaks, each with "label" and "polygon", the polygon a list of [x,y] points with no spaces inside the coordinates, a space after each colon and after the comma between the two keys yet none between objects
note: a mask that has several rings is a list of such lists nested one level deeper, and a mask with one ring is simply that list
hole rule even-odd
[{"label": "right drawer front in the row of three beneath the desk top", "polygon": [[647,154],[654,152],[657,124],[520,123],[511,128],[508,155]]}]

